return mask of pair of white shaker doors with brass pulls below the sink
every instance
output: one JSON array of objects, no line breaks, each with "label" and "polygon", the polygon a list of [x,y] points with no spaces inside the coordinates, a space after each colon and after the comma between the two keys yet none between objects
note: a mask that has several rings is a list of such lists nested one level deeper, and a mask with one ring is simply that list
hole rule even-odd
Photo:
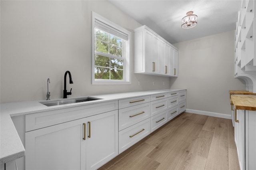
[{"label": "pair of white shaker doors with brass pulls below the sink", "polygon": [[25,133],[26,170],[91,170],[118,155],[118,111]]}]

